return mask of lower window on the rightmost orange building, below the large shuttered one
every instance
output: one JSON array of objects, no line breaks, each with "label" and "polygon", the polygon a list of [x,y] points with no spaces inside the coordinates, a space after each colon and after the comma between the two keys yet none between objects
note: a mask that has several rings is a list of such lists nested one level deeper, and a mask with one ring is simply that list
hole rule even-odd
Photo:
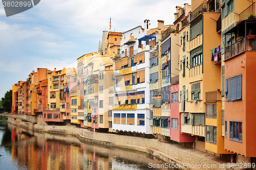
[{"label": "lower window on the rightmost orange building, below the large shuttered one", "polygon": [[242,142],[242,122],[229,121],[229,139]]}]

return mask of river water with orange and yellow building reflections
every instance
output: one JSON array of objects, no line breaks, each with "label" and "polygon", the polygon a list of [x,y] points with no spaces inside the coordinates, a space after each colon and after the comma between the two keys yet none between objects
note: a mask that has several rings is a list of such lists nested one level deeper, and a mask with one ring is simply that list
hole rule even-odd
[{"label": "river water with orange and yellow building reflections", "polygon": [[[150,164],[150,166],[149,166]],[[0,169],[162,169],[150,154],[36,133],[0,120]],[[169,169],[169,168],[165,168]]]}]

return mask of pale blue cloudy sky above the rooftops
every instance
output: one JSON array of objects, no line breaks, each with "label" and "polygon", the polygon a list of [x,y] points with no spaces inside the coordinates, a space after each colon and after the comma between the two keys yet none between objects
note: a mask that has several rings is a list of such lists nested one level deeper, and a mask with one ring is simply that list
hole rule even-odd
[{"label": "pale blue cloudy sky above the rooftops", "polygon": [[176,6],[190,0],[41,0],[35,7],[6,17],[0,3],[0,100],[18,81],[37,68],[76,67],[76,59],[98,52],[102,32],[150,28],[157,20],[174,22]]}]

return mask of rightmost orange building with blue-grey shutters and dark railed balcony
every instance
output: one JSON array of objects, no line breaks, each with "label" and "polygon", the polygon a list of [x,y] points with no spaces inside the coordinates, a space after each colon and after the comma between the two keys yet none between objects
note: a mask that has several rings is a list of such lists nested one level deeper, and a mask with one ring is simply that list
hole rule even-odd
[{"label": "rightmost orange building with blue-grey shutters and dark railed balcony", "polygon": [[221,7],[224,149],[236,154],[232,162],[255,163],[255,1],[232,0]]}]

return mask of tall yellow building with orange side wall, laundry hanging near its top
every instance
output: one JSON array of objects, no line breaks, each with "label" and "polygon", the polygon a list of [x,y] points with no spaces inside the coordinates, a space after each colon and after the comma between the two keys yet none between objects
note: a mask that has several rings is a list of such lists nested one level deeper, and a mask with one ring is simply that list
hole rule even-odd
[{"label": "tall yellow building with orange side wall, laundry hanging near its top", "polygon": [[[221,16],[219,3],[191,1],[189,33],[183,32],[181,46],[189,36],[190,54],[180,55],[181,133],[196,136],[195,149],[219,155],[224,150],[221,133],[221,58],[211,51],[221,44],[217,20]],[[185,38],[184,38],[185,37]],[[182,44],[182,41],[184,44]],[[214,83],[213,83],[214,82]]]}]

